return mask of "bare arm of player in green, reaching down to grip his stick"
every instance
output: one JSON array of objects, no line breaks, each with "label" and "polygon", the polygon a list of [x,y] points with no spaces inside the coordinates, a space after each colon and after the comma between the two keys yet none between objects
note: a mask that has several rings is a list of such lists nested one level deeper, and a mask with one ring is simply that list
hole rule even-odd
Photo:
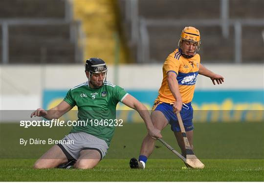
[{"label": "bare arm of player in green, reaching down to grip his stick", "polygon": [[148,109],[137,99],[135,99],[132,95],[128,94],[123,100],[122,103],[126,106],[136,110],[139,115],[144,120],[146,127],[148,129],[148,133],[153,139],[162,138],[160,134],[160,130],[154,128],[153,123],[151,121],[150,114],[148,112]]}]

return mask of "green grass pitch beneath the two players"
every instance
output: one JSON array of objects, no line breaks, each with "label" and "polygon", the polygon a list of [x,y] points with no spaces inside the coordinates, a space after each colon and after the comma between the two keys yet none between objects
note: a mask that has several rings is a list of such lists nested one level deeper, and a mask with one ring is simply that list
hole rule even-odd
[{"label": "green grass pitch beneath the two players", "polygon": [[[107,156],[91,170],[33,169],[50,145],[19,145],[20,138],[61,139],[69,128],[21,128],[0,124],[0,181],[264,181],[264,123],[197,123],[194,146],[204,169],[183,162],[156,142],[145,170],[130,169],[146,134],[144,124],[116,128]],[[169,127],[163,139],[178,152]]]}]

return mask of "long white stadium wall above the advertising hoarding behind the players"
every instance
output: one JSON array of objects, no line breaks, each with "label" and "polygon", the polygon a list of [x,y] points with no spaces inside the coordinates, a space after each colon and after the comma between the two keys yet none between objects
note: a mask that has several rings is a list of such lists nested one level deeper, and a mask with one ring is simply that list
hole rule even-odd
[{"label": "long white stadium wall above the advertising hoarding behind the players", "polygon": [[[224,76],[223,85],[214,86],[199,75],[196,90],[263,90],[264,65],[205,64]],[[118,71],[117,83],[114,73]],[[86,81],[82,65],[1,65],[0,110],[33,110],[42,106],[42,93],[68,90]],[[109,66],[108,80],[126,90],[158,90],[162,81],[162,65]],[[263,102],[263,101],[261,101]]]}]

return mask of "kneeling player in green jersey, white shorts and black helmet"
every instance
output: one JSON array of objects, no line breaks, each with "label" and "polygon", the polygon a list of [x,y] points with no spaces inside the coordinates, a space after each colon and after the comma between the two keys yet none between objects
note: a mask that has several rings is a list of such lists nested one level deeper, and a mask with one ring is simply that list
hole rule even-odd
[{"label": "kneeling player in green jersey, white shorts and black helmet", "polygon": [[[114,120],[118,102],[138,111],[153,139],[162,137],[160,131],[154,128],[147,108],[121,87],[106,80],[107,66],[102,59],[89,58],[85,73],[88,82],[70,89],[58,106],[50,110],[40,108],[31,113],[31,117],[58,119],[77,106],[78,121],[85,122],[71,129],[63,139],[66,143],[52,146],[37,160],[35,168],[73,165],[75,168],[87,169],[96,166],[110,146],[115,127],[110,124],[116,123]],[[107,123],[98,125],[102,120],[107,120]]]}]

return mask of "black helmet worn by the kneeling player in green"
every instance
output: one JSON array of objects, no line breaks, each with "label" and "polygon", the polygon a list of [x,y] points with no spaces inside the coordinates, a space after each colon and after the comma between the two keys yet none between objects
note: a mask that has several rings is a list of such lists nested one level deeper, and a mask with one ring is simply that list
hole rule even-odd
[{"label": "black helmet worn by the kneeling player in green", "polygon": [[89,58],[86,60],[85,71],[92,73],[105,73],[107,72],[106,62],[101,58]]}]

